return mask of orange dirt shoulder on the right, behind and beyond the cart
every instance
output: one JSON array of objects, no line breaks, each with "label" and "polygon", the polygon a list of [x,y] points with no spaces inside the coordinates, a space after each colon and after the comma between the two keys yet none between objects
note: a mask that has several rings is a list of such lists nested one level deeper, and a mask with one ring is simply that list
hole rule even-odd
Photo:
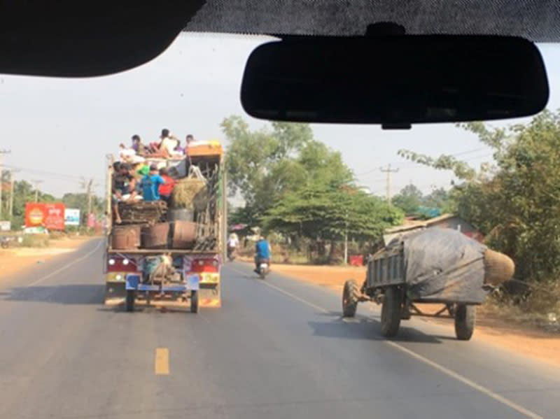
[{"label": "orange dirt shoulder on the right, behind and beyond the cart", "polygon": [[[344,281],[353,278],[361,283],[365,278],[364,267],[314,267],[305,265],[274,264],[274,272],[302,280],[306,283],[321,285],[337,292],[342,298]],[[426,313],[435,313],[442,306],[439,304],[421,304],[420,309]],[[453,320],[423,318],[429,322],[449,327],[454,333]],[[560,366],[560,334],[553,334],[522,325],[500,317],[498,313],[486,306],[477,309],[477,339],[500,348],[514,350],[515,353],[533,357],[536,360]]]}]

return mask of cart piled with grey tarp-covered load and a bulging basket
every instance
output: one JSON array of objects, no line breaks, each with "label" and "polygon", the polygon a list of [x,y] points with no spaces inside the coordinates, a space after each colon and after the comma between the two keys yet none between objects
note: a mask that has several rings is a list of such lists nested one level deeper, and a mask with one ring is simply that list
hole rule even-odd
[{"label": "cart piled with grey tarp-covered load and a bulging basket", "polygon": [[[386,337],[395,336],[400,321],[412,315],[454,318],[457,339],[469,340],[476,306],[513,271],[509,257],[456,230],[426,229],[397,238],[372,255],[363,284],[344,284],[342,311],[353,317],[359,302],[381,304],[381,334]],[[419,308],[426,303],[442,307],[428,314]]]}]

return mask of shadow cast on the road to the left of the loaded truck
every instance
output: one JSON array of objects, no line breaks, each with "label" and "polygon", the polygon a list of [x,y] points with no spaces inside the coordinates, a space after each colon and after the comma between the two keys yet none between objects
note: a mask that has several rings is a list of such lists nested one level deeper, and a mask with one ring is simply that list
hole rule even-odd
[{"label": "shadow cast on the road to the left of the loaded truck", "polygon": [[14,287],[0,292],[3,301],[29,301],[51,304],[103,304],[105,285],[68,284]]}]

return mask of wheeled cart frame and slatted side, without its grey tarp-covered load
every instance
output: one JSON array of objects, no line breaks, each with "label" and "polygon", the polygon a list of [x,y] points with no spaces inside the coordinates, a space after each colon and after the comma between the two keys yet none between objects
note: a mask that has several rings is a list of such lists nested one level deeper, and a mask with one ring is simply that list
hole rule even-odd
[{"label": "wheeled cart frame and slatted side, without its grey tarp-covered load", "polygon": [[[381,334],[395,336],[400,321],[409,320],[412,315],[453,318],[457,339],[468,341],[475,329],[477,302],[452,301],[448,299],[414,298],[407,289],[405,278],[404,246],[385,248],[367,261],[367,274],[360,287],[356,280],[344,283],[342,312],[344,317],[356,315],[358,303],[373,301],[381,304]],[[422,303],[442,304],[436,313],[424,313],[419,308]]]}]

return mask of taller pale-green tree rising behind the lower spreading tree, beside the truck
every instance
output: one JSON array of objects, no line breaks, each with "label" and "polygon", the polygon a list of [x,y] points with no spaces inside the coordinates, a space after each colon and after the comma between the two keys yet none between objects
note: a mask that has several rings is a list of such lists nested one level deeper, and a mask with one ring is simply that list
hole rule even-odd
[{"label": "taller pale-green tree rising behind the lower spreading tree, beside the truck", "polygon": [[283,192],[314,178],[344,183],[352,177],[340,154],[315,141],[307,124],[274,122],[272,129],[251,131],[239,116],[231,116],[221,127],[228,139],[228,188],[241,194],[252,220]]}]

